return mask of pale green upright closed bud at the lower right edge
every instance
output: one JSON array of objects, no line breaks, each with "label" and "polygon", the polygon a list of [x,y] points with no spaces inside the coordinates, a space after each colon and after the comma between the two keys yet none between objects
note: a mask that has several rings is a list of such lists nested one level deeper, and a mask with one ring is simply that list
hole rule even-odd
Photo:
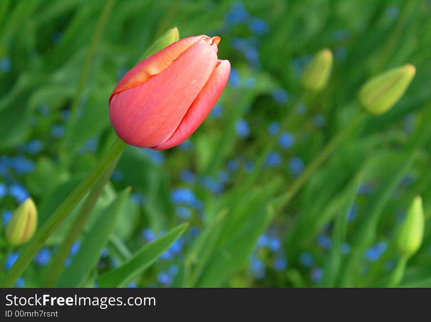
[{"label": "pale green upright closed bud at the lower right edge", "polygon": [[406,219],[401,225],[398,234],[398,251],[403,257],[412,257],[421,246],[424,236],[424,221],[422,198],[417,196],[411,203]]}]

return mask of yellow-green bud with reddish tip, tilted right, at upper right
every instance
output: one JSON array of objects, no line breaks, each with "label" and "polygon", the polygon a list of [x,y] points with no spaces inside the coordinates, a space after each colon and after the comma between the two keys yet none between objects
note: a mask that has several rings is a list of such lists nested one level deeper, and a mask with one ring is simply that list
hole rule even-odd
[{"label": "yellow-green bud with reddish tip, tilted right, at upper right", "polygon": [[366,82],[359,90],[359,101],[370,113],[380,115],[404,95],[416,73],[413,65],[392,68]]}]

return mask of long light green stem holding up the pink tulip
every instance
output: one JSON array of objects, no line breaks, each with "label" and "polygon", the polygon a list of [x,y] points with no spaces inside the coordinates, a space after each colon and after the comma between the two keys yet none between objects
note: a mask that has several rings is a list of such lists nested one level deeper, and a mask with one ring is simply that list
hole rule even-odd
[{"label": "long light green stem holding up the pink tulip", "polygon": [[108,150],[108,152],[99,160],[93,170],[87,174],[72,193],[70,193],[60,206],[58,206],[45,224],[36,232],[35,236],[24,248],[14,265],[6,273],[2,283],[3,287],[12,287],[15,284],[16,280],[21,276],[32,258],[41,249],[55,228],[73,210],[73,208],[75,208],[86,193],[88,193],[100,176],[102,176],[103,173],[105,173],[110,166],[116,162],[125,147],[126,144],[120,139],[117,139],[110,150]]}]

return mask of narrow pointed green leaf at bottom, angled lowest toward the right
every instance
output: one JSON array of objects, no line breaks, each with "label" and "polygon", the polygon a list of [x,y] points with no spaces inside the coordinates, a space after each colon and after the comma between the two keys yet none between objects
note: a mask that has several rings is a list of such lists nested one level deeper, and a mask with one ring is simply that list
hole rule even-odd
[{"label": "narrow pointed green leaf at bottom, angled lowest toward the right", "polygon": [[99,287],[120,287],[130,282],[161,257],[186,231],[187,227],[187,223],[179,225],[152,243],[145,245],[124,265],[101,275]]}]

